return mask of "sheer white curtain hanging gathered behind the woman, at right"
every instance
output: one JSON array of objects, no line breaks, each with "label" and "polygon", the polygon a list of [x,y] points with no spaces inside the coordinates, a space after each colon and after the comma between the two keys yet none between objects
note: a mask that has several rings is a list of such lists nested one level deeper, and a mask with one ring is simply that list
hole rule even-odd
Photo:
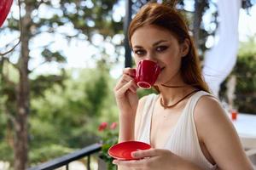
[{"label": "sheer white curtain hanging gathered behind the woman, at right", "polygon": [[[220,84],[229,76],[236,64],[238,50],[238,20],[241,0],[218,0],[218,42],[206,53],[203,75],[218,97]],[[215,38],[215,39],[216,39]]]}]

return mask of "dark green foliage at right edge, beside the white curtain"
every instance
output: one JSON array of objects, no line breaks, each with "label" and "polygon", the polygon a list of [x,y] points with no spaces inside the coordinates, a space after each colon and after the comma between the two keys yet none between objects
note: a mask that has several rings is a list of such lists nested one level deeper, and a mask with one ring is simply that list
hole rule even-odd
[{"label": "dark green foliage at right edge, beside the white curtain", "polygon": [[236,100],[239,111],[255,113],[256,111],[256,42],[255,37],[241,43],[236,67]]}]

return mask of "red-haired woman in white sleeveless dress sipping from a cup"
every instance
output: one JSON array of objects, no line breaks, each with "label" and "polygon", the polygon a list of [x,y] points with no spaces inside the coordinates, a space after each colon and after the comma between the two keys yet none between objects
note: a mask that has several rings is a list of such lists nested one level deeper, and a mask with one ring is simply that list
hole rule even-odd
[{"label": "red-haired woman in white sleeveless dress sipping from a cup", "polygon": [[148,3],[131,21],[129,39],[136,64],[160,65],[158,95],[138,100],[135,71],[126,68],[114,94],[119,107],[119,142],[139,140],[150,150],[138,161],[114,160],[119,169],[252,169],[229,118],[209,94],[195,47],[182,16]]}]

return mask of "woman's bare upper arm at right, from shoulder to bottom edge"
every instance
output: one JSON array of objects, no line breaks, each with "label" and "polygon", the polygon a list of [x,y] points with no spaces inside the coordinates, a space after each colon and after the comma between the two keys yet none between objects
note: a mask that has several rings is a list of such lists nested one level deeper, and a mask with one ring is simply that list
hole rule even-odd
[{"label": "woman's bare upper arm at right, from shoulder to bottom edge", "polygon": [[202,97],[195,106],[198,137],[220,169],[253,169],[236,129],[216,99]]}]

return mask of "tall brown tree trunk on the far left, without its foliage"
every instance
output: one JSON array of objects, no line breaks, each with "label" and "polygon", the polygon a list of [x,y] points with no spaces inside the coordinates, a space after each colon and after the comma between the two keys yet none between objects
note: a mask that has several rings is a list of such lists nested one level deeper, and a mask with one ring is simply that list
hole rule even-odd
[{"label": "tall brown tree trunk on the far left, without its foliage", "polygon": [[20,81],[17,88],[17,115],[15,119],[15,170],[25,170],[28,162],[28,115],[29,100],[29,40],[32,6],[26,4],[26,14],[22,18],[22,35],[18,68]]}]

